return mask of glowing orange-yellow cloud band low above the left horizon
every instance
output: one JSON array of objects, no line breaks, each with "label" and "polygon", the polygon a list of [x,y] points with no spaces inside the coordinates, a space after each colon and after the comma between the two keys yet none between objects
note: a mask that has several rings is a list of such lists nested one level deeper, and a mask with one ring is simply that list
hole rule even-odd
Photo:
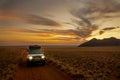
[{"label": "glowing orange-yellow cloud band low above the left horizon", "polygon": [[67,30],[25,30],[19,28],[2,28],[6,34],[0,35],[0,41],[18,41],[31,43],[75,43],[81,41],[81,37]]}]

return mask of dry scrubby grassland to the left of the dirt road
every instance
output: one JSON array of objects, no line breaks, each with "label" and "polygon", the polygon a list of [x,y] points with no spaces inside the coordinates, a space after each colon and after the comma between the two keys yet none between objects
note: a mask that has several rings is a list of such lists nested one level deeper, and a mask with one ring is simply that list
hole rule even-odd
[{"label": "dry scrubby grassland to the left of the dirt road", "polygon": [[13,80],[20,53],[20,48],[0,47],[0,80]]}]

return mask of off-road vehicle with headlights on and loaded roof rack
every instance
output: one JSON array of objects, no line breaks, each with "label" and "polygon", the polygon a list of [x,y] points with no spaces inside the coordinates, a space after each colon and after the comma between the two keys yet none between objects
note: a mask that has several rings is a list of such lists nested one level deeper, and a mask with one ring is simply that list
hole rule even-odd
[{"label": "off-road vehicle with headlights on and loaded roof rack", "polygon": [[31,64],[42,64],[45,65],[46,58],[41,50],[41,46],[31,45],[29,46],[27,53],[27,65]]}]

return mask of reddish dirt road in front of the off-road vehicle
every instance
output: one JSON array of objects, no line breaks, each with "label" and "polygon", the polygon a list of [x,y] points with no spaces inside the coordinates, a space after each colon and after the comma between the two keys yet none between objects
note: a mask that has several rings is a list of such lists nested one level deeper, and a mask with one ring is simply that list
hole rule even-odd
[{"label": "reddish dirt road in front of the off-road vehicle", "polygon": [[[23,51],[24,53],[24,51]],[[25,58],[25,55],[23,56]],[[15,75],[15,80],[72,80],[54,65],[47,63],[45,66],[27,67],[22,63]]]}]

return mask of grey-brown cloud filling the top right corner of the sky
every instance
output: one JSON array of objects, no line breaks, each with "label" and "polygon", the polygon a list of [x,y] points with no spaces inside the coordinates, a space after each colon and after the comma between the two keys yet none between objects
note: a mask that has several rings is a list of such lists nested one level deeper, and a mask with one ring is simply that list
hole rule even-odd
[{"label": "grey-brown cloud filling the top right corner of the sky", "polygon": [[92,14],[94,12],[110,13],[119,12],[120,3],[119,0],[84,0],[84,7],[80,8],[78,13],[82,15]]}]

